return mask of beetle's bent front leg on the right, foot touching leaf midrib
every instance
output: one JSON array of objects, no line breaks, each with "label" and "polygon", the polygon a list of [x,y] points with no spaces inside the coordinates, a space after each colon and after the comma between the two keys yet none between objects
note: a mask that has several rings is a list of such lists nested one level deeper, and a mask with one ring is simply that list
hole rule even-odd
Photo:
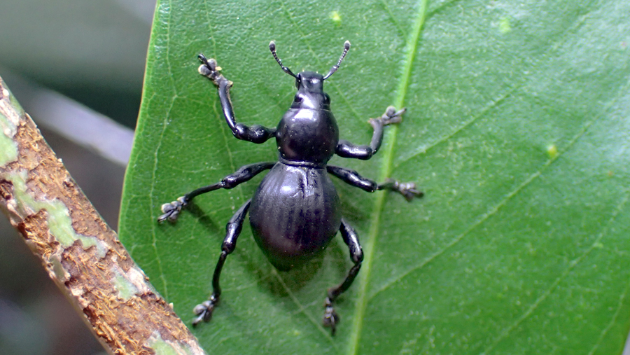
[{"label": "beetle's bent front leg on the right, foot touching leaf midrib", "polygon": [[349,141],[342,140],[337,144],[335,153],[342,158],[356,158],[361,160],[372,158],[372,155],[376,154],[379,148],[381,148],[381,143],[383,142],[383,127],[393,123],[400,123],[402,113],[405,113],[405,109],[396,111],[394,106],[389,106],[381,117],[370,118],[370,125],[374,128],[374,133],[372,134],[372,141],[370,141],[369,146],[357,146]]}]

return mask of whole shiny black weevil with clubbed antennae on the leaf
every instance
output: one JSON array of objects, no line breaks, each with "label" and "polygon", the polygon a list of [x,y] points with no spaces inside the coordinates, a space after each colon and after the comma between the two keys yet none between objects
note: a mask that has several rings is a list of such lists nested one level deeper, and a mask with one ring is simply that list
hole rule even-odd
[{"label": "whole shiny black weevil with clubbed antennae on the leaf", "polygon": [[332,307],[332,302],[335,302],[335,299],[344,293],[356,278],[363,260],[363,251],[356,232],[342,218],[339,197],[328,174],[337,176],[342,181],[370,193],[376,190],[393,190],[405,196],[409,201],[423,195],[416,190],[414,183],[400,183],[391,179],[385,183],[376,183],[365,179],[353,170],[326,165],[333,154],[343,158],[363,160],[372,158],[381,146],[383,127],[400,123],[400,116],[405,112],[405,109],[397,111],[393,106],[389,106],[383,116],[370,119],[374,134],[369,145],[358,146],[349,141],[339,141],[339,129],[330,111],[330,97],[323,92],[323,81],[339,69],[339,64],[349,49],[350,42],[346,41],[339,62],[332,66],[325,76],[312,71],[302,71],[295,75],[282,65],[276,55],[275,43],[273,41],[269,43],[269,50],[276,62],[286,74],[295,78],[297,87],[293,104],[276,128],[260,125],[250,127],[237,123],[230,101],[232,82],[219,73],[221,68],[217,66],[216,60],[207,60],[204,55],[199,55],[199,60],[202,62],[199,73],[209,78],[218,87],[223,115],[232,134],[238,139],[256,144],[274,137],[278,146],[279,161],[246,165],[234,174],[225,176],[218,183],[197,188],[174,202],[162,205],[164,214],[158,218],[158,221],[167,219],[175,221],[181,209],[186,207],[195,196],[219,188],[234,188],[260,172],[271,169],[251,200],[239,208],[226,226],[227,234],[223,240],[221,256],[212,279],[213,292],[209,300],[195,307],[197,318],[193,321],[193,326],[202,320],[211,319],[212,311],[221,295],[219,277],[223,263],[228,254],[235,250],[245,215],[249,211],[249,221],[255,241],[269,261],[281,271],[303,265],[316,253],[325,249],[337,231],[341,232],[344,242],[349,246],[354,265],[341,284],[328,289],[328,297],[325,299],[323,323],[332,328],[334,335],[339,316]]}]

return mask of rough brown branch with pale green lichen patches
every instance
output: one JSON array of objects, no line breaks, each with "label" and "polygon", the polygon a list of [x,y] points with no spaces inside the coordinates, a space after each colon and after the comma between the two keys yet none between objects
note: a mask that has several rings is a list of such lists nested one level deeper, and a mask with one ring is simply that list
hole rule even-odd
[{"label": "rough brown branch with pale green lichen patches", "polygon": [[111,354],[205,354],[0,78],[0,208]]}]

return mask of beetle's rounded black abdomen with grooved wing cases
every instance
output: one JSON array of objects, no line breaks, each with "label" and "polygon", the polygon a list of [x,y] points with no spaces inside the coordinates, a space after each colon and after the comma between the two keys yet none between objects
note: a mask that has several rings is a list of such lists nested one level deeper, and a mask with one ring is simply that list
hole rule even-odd
[{"label": "beetle's rounded black abdomen with grooved wing cases", "polygon": [[326,169],[277,163],[253,195],[254,239],[279,270],[325,249],[341,225],[339,197]]}]

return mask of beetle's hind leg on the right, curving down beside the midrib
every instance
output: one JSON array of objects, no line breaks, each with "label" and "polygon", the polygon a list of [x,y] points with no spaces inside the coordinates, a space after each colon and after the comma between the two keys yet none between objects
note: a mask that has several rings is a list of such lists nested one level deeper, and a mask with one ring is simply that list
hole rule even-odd
[{"label": "beetle's hind leg on the right, curving down beside the midrib", "polygon": [[336,325],[339,323],[339,316],[335,312],[335,308],[332,306],[332,303],[335,302],[337,297],[344,293],[352,284],[354,279],[356,279],[356,275],[358,274],[361,268],[361,262],[363,261],[363,249],[361,249],[361,244],[358,241],[358,235],[354,229],[346,223],[344,218],[342,218],[341,227],[339,231],[342,233],[342,237],[344,239],[344,243],[350,249],[350,258],[354,263],[353,267],[348,272],[348,276],[346,279],[336,287],[328,288],[328,297],[325,300],[325,314],[323,317],[324,326],[330,327],[332,335],[335,335]]}]

